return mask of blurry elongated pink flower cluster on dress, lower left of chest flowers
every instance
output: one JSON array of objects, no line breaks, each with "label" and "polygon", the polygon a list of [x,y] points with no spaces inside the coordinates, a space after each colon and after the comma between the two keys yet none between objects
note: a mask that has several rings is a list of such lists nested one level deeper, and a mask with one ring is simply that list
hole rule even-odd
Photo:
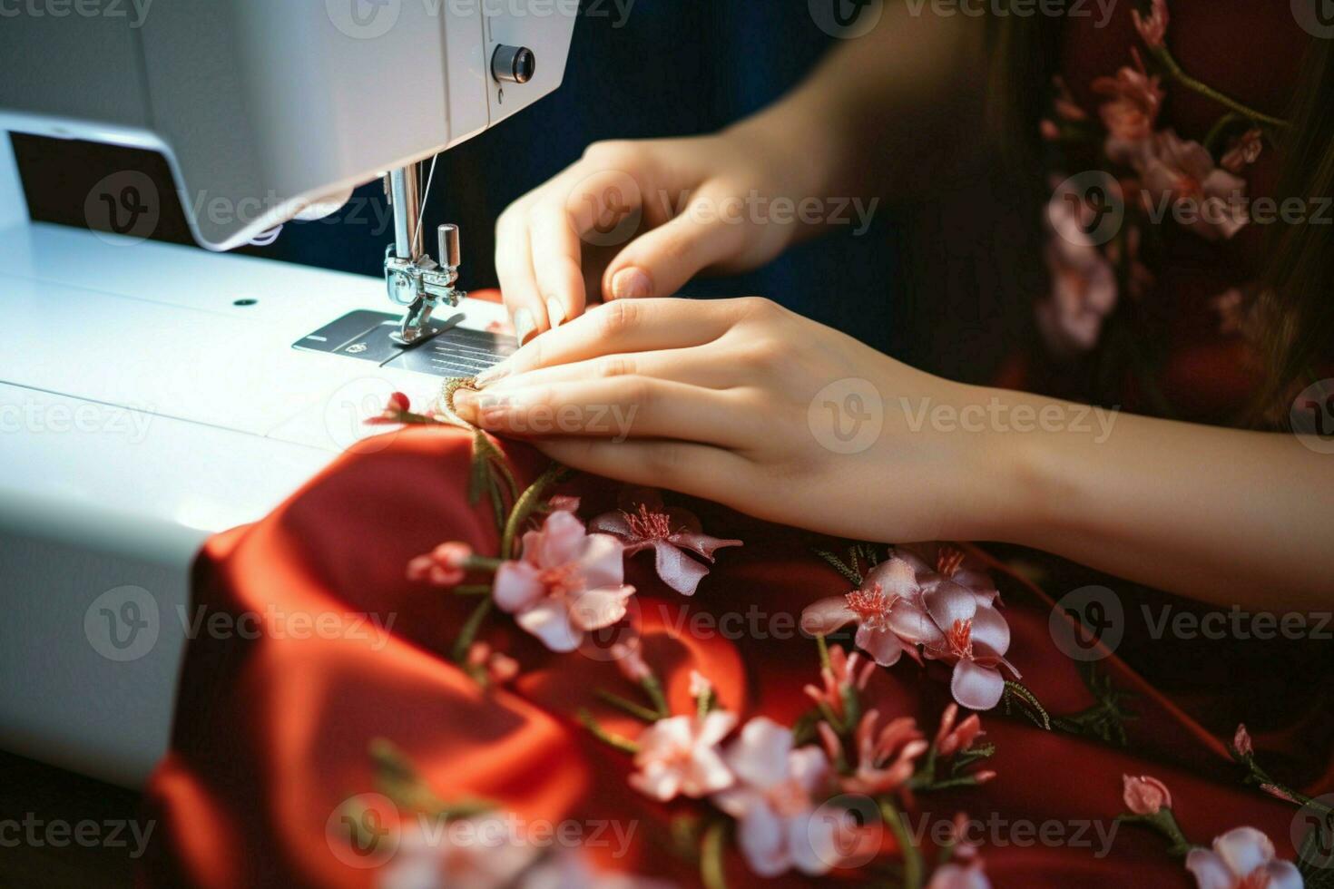
[{"label": "blurry elongated pink flower cluster on dress, lower left of chest flowers", "polygon": [[1051,296],[1038,304],[1038,324],[1055,355],[1087,352],[1117,305],[1117,273],[1087,233],[1093,208],[1069,187],[1051,196],[1047,224]]}]

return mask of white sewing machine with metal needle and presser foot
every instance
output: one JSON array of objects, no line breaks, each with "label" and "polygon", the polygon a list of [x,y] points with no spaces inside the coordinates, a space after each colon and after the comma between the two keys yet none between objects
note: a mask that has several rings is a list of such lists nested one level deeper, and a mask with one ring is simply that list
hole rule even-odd
[{"label": "white sewing machine with metal needle and presser foot", "polygon": [[[203,541],[368,446],[391,392],[426,404],[512,348],[456,289],[458,229],[422,232],[419,164],[559,87],[576,15],[117,0],[0,21],[0,131],[160,152],[208,248],[145,240],[177,196],[132,171],[88,195],[111,231],[31,223],[0,132],[0,748],[140,785]],[[376,180],[383,281],[225,253]]]}]

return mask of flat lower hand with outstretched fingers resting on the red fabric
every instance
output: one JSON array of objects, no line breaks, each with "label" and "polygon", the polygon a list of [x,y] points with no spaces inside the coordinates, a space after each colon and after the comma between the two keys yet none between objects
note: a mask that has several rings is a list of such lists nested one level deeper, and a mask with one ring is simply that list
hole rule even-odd
[{"label": "flat lower hand with outstretched fingers resting on the red fabric", "polygon": [[831,534],[983,537],[1005,496],[986,436],[923,419],[967,387],[768,300],[608,303],[483,383],[460,416],[567,465]]}]

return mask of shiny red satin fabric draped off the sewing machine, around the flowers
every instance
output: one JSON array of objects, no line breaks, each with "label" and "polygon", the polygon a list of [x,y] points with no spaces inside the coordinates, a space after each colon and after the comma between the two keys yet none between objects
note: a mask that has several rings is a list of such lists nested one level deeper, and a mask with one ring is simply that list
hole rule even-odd
[{"label": "shiny red satin fabric draped off the sewing machine, around the flowers", "polygon": [[[634,822],[631,854],[606,866],[680,885],[698,881],[696,868],[668,852],[663,837],[672,816],[700,804],[659,805],[630,789],[630,757],[575,721],[586,706],[608,729],[638,732],[634,720],[594,696],[598,686],[635,694],[615,666],[578,652],[551,654],[502,614],[483,638],[516,657],[523,672],[510,688],[482,692],[448,657],[475,600],[460,602],[404,578],[407,561],[442,540],[467,541],[479,553],[498,549],[487,509],[470,506],[464,493],[470,444],[455,429],[392,432],[340,458],[264,521],[208,544],[196,572],[196,608],[233,616],[392,614],[392,634],[378,646],[374,634],[356,638],[352,628],[344,638],[295,638],[271,633],[265,622],[259,638],[203,634],[191,642],[171,753],[149,790],[159,828],[143,886],[375,885],[375,872],[340,861],[325,833],[343,800],[375,789],[367,754],[375,738],[412,757],[446,800],[483,797],[524,818]],[[508,450],[520,482],[546,465],[527,446]],[[582,477],[568,488],[584,497],[586,518],[615,502],[616,486],[604,480]],[[719,552],[694,598],[658,581],[651,556],[628,561],[646,657],[678,713],[692,706],[687,684],[698,669],[743,720],[768,714],[790,725],[808,709],[800,689],[818,673],[814,642],[794,630],[800,609],[848,589],[810,552],[830,541],[710,504],[688,505],[710,533],[746,545]],[[1077,665],[1051,641],[1051,601],[999,566],[994,574],[1014,633],[1010,658],[1025,682],[1053,714],[1090,706]],[[692,622],[752,606],[762,617],[747,628],[762,633],[743,629],[724,638],[699,633]],[[988,768],[998,777],[920,797],[919,813],[1058,822],[1071,825],[1066,836],[1089,821],[1106,830],[1123,810],[1122,774],[1153,774],[1171,789],[1194,841],[1207,844],[1247,824],[1273,837],[1279,856],[1294,857],[1287,838],[1294,806],[1243,788],[1225,744],[1118,658],[1102,668],[1118,689],[1135,694],[1127,749],[1046,732],[1019,714],[986,713],[986,740],[996,745]],[[947,674],[904,661],[878,670],[866,697],[884,714],[915,716],[931,733],[950,700]],[[1165,841],[1145,828],[1119,829],[1102,858],[1097,841],[1093,849],[1019,845],[1025,836],[1035,837],[1002,833],[1007,845],[983,845],[992,885],[1193,885]],[[759,882],[735,853],[728,878],[732,886]]]}]

